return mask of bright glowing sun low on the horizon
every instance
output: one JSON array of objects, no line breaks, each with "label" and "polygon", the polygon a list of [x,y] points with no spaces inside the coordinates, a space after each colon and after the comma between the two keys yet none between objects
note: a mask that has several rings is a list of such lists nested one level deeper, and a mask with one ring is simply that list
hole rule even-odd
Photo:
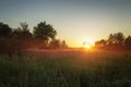
[{"label": "bright glowing sun low on the horizon", "polygon": [[83,38],[82,39],[82,47],[85,49],[91,49],[94,47],[94,40],[91,38]]}]

